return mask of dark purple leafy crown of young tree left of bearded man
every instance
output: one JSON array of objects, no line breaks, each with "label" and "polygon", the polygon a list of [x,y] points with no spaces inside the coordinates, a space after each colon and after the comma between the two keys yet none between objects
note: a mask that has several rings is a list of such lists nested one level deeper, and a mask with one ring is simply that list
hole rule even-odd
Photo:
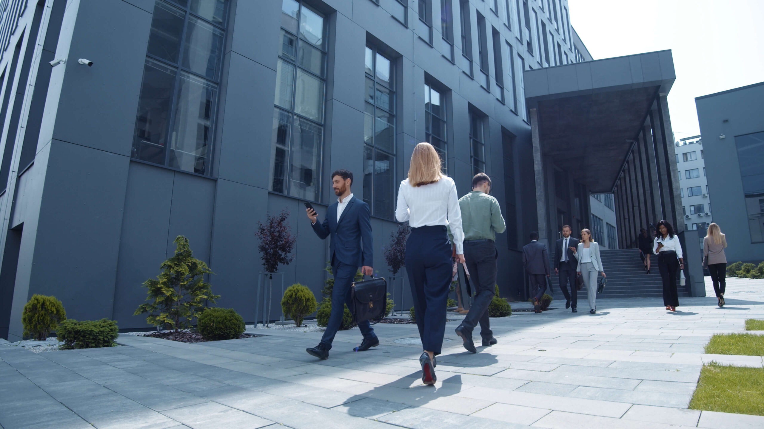
[{"label": "dark purple leafy crown of young tree left of bearded man", "polygon": [[276,216],[267,215],[264,224],[257,222],[254,235],[260,239],[257,250],[260,250],[266,273],[276,273],[279,265],[289,265],[294,259],[291,253],[297,237],[292,235],[292,227],[286,222],[289,215],[289,211],[284,210]]}]

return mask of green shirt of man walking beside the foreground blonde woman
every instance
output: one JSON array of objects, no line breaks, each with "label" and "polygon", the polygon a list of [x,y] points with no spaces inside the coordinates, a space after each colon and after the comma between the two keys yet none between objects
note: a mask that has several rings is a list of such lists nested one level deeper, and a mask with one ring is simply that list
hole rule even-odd
[{"label": "green shirt of man walking beside the foreground blonde woman", "polygon": [[496,198],[480,191],[472,191],[459,198],[461,228],[465,240],[496,240],[496,234],[507,230]]}]

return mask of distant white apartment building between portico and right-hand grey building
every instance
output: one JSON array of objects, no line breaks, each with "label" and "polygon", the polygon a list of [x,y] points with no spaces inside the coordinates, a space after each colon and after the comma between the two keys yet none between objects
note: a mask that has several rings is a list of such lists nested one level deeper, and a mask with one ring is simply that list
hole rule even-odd
[{"label": "distant white apartment building between portico and right-hand grey building", "polygon": [[704,230],[711,224],[712,215],[701,136],[678,140],[675,152],[685,230],[700,230],[699,234],[704,237]]}]

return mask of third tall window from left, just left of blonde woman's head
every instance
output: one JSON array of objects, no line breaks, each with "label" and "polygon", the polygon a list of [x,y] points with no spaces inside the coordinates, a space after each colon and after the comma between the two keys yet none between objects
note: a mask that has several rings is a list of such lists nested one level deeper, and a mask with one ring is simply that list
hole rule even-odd
[{"label": "third tall window from left, just left of blonde woman's head", "polygon": [[395,210],[395,72],[392,61],[366,47],[364,202],[380,218]]}]

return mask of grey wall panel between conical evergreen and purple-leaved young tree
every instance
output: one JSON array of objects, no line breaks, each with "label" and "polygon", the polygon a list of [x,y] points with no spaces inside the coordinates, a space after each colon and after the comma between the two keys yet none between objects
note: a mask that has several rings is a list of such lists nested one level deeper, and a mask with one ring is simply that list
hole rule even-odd
[{"label": "grey wall panel between conical evergreen and purple-leaved young tree", "polygon": [[212,255],[209,267],[218,307],[235,308],[245,321],[254,320],[257,273],[262,271],[257,251],[257,221],[265,221],[265,189],[219,179],[215,188]]}]

